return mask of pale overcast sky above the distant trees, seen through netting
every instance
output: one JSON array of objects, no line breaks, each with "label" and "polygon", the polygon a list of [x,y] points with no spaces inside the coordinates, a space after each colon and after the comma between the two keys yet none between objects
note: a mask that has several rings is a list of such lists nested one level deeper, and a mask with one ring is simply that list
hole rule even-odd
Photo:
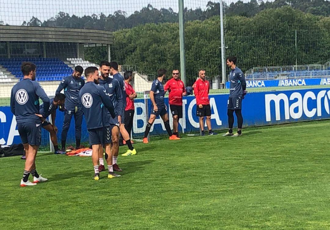
[{"label": "pale overcast sky above the distant trees, seen through netting", "polygon": [[[208,1],[185,0],[184,7],[205,9]],[[237,0],[225,0],[227,4],[233,1]],[[32,16],[44,21],[60,11],[83,16],[101,12],[108,15],[121,10],[130,15],[134,11],[140,11],[149,3],[157,9],[171,7],[175,12],[178,11],[178,0],[0,0],[0,21],[10,25],[21,25],[23,21],[29,21]]]}]

